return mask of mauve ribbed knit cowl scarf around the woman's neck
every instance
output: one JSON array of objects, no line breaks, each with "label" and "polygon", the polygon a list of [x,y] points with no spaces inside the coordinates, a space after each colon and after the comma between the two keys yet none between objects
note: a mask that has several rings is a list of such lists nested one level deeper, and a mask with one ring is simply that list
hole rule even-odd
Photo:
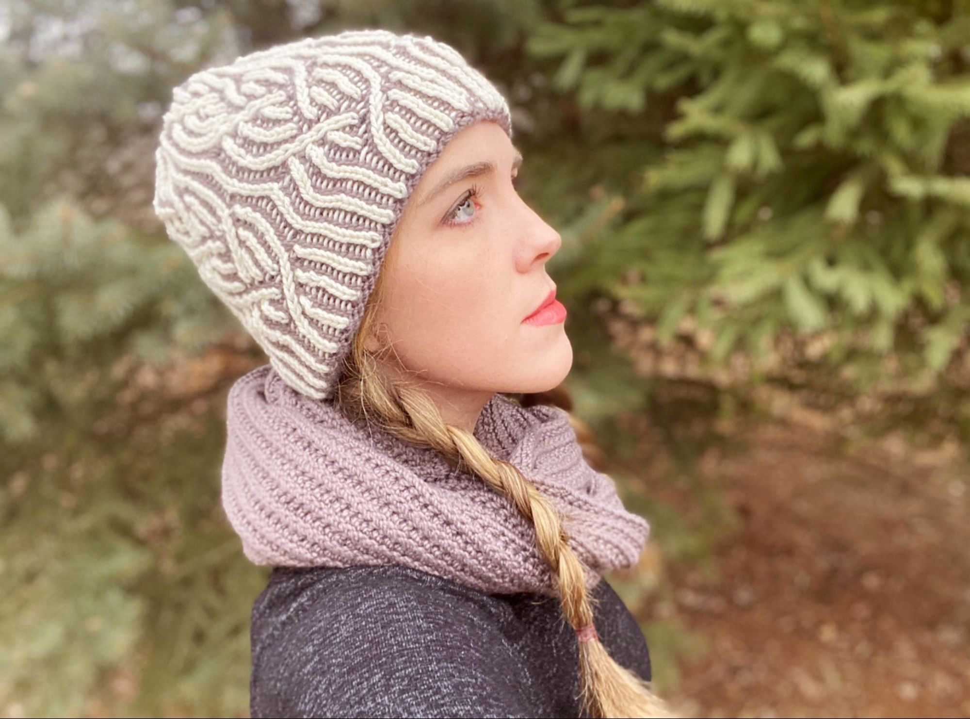
[{"label": "mauve ribbed knit cowl scarf around the woman's neck", "polygon": [[[268,365],[237,380],[226,421],[223,507],[252,562],[401,564],[482,592],[556,595],[532,523],[435,449],[351,422]],[[522,408],[497,393],[474,436],[563,514],[589,587],[636,563],[647,522],[586,463],[564,409]]]}]

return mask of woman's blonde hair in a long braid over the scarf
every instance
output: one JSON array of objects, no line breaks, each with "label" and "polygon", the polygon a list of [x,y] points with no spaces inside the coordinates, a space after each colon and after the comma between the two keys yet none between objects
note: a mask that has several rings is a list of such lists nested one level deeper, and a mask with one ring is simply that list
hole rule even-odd
[{"label": "woman's blonde hair in a long braid over the scarf", "polygon": [[[390,249],[395,245],[392,242]],[[493,457],[466,430],[445,424],[426,392],[413,383],[392,381],[385,376],[378,358],[386,357],[393,351],[392,347],[382,344],[376,351],[365,347],[369,337],[376,338],[375,317],[383,298],[383,278],[389,259],[385,258],[351,351],[344,359],[343,374],[335,395],[336,405],[349,416],[366,417],[379,423],[405,441],[436,448],[456,466],[464,463],[492,489],[508,497],[533,523],[539,553],[556,577],[561,605],[569,624],[573,629],[592,625],[595,603],[586,589],[584,565],[569,546],[568,534],[556,508],[514,465]],[[527,394],[520,404],[529,406],[544,400],[559,404],[556,399],[555,393]],[[562,390],[558,399],[560,403],[570,405]],[[571,409],[571,405],[565,409]],[[573,426],[580,425],[571,413],[569,416]],[[588,433],[584,435],[588,440]],[[580,699],[591,717],[673,716],[651,692],[650,683],[618,664],[598,638],[578,643]]]}]

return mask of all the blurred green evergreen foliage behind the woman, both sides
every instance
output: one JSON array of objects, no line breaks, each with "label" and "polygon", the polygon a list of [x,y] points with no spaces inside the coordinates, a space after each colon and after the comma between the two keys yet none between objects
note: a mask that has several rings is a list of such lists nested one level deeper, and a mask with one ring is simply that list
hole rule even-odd
[{"label": "all the blurred green evergreen foliage behind the woman, both sides", "polygon": [[[968,11],[8,0],[0,711],[246,713],[248,613],[265,572],[242,558],[218,497],[217,398],[239,365],[193,391],[159,379],[173,360],[239,348],[238,324],[150,208],[161,114],[189,74],[363,26],[431,34],[482,69],[513,108],[521,191],[563,234],[550,272],[570,307],[577,410],[622,455],[635,438],[613,431],[616,416],[680,425],[659,383],[610,346],[603,301],[654,323],[661,346],[690,318],[689,333],[713,336],[698,343],[707,367],[751,360],[743,381],[777,365],[780,337],[818,336],[819,381],[965,391]],[[670,552],[699,561],[713,530],[644,502]],[[716,498],[709,508],[711,526],[729,524]],[[648,636],[661,664],[695,646],[670,623]]]}]

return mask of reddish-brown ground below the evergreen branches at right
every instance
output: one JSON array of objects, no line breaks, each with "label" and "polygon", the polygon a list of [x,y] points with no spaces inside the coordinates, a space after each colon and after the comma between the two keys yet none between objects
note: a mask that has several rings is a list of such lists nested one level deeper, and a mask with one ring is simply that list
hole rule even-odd
[{"label": "reddish-brown ground below the evergreen branches at right", "polygon": [[[665,613],[707,645],[684,660],[671,702],[694,716],[970,715],[958,453],[898,438],[840,452],[830,433],[781,422],[749,440],[700,462],[741,518],[715,549],[718,578],[665,571]],[[664,499],[690,508],[687,493]]]}]

